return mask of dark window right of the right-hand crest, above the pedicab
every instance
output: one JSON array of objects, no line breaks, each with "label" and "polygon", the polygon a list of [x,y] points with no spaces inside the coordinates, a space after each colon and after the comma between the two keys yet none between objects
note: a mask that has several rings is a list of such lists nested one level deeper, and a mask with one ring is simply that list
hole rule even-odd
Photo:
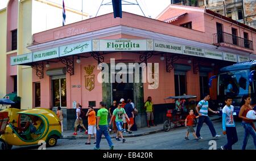
[{"label": "dark window right of the right-hand crest, above the pedicab", "polygon": [[175,96],[181,96],[183,94],[187,94],[187,78],[184,74],[175,74],[174,75],[175,82]]}]

